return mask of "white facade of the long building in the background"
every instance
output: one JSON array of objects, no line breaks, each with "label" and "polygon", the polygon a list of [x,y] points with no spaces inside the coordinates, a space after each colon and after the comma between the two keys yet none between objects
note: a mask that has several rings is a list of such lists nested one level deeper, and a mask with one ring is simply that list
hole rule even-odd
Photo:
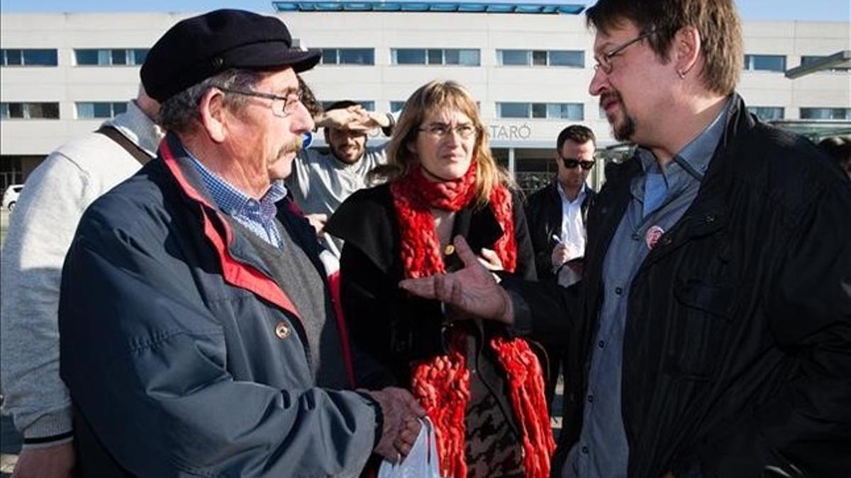
[{"label": "white facade of the long building in the background", "polygon": [[[122,101],[134,97],[138,66],[73,65],[74,48],[149,48],[174,22],[191,14],[3,14],[3,48],[59,48],[58,67],[3,67],[0,101],[59,101],[60,120],[3,120],[0,154],[47,154],[100,121],[74,119],[75,101]],[[585,124],[601,143],[612,142],[598,114],[591,80],[593,37],[585,17],[541,14],[289,13],[280,14],[294,37],[310,48],[375,48],[374,66],[323,65],[305,74],[321,100],[374,100],[379,110],[405,100],[433,78],[464,83],[480,101],[494,145],[551,149],[568,120],[498,119],[497,101],[582,103]],[[745,53],[785,54],[786,67],[802,54],[851,48],[848,22],[745,22]],[[391,48],[481,48],[480,67],[391,65]],[[500,66],[496,50],[585,51],[585,68]],[[745,71],[740,93],[750,105],[783,106],[786,118],[799,107],[851,106],[851,75],[822,72],[788,80],[780,72]]]}]

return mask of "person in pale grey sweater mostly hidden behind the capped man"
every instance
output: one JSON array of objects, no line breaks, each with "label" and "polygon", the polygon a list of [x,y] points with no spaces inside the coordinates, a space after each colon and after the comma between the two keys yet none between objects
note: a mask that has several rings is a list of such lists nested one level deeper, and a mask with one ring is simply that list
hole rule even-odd
[{"label": "person in pale grey sweater mostly hidden behind the capped man", "polygon": [[73,469],[56,325],[62,261],[89,204],[157,155],[158,110],[140,88],[127,111],[50,153],[27,178],[11,217],[0,275],[0,377],[4,411],[24,436],[16,478],[58,478]]}]

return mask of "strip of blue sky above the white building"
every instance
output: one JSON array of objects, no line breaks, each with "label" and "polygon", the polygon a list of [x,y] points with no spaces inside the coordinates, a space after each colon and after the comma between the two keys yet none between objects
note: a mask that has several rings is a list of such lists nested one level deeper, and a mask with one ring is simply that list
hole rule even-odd
[{"label": "strip of blue sky above the white building", "polygon": [[[432,0],[453,1],[453,0]],[[460,0],[464,1],[464,0]],[[483,0],[479,0],[483,1]],[[510,0],[492,0],[505,2]],[[584,0],[516,0],[517,3],[580,3]],[[851,21],[849,0],[736,0],[745,20]],[[271,0],[0,0],[3,12],[202,12],[238,8],[271,13]]]}]

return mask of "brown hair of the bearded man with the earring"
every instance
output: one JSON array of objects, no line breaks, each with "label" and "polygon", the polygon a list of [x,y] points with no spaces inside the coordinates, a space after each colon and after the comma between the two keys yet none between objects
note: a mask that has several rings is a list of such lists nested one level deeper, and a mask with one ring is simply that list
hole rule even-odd
[{"label": "brown hair of the bearded man with the earring", "polygon": [[663,61],[677,31],[694,26],[700,33],[704,86],[726,96],[739,83],[745,54],[733,0],[599,0],[585,15],[587,25],[603,33],[619,28],[624,20],[644,33],[655,31],[648,43]]}]

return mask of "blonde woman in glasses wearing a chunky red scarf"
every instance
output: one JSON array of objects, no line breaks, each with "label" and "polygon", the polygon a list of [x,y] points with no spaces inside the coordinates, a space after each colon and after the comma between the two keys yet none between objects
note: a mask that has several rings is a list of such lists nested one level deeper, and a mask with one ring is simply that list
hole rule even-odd
[{"label": "blonde woman in glasses wearing a chunky red scarf", "polygon": [[[460,317],[398,282],[460,269],[463,236],[497,274],[534,277],[523,208],[491,156],[476,102],[431,82],[405,103],[376,172],[328,221],[345,241],[342,302],[351,338],[407,385],[435,424],[441,475],[545,478],[554,447],[540,364],[504,324]],[[357,364],[356,364],[357,366]]]}]

